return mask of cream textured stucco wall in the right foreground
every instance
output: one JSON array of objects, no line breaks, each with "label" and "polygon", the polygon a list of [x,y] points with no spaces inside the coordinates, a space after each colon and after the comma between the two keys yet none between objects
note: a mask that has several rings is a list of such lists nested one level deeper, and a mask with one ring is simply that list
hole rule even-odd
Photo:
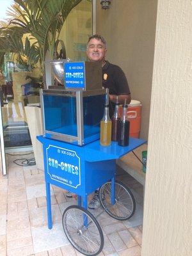
[{"label": "cream textured stucco wall in the right foreground", "polygon": [[142,256],[192,255],[191,37],[192,2],[158,1]]}]

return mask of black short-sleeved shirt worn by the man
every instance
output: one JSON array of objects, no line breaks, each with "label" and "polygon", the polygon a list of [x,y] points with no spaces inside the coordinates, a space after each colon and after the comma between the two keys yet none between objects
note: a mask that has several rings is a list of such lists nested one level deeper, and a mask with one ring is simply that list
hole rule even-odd
[{"label": "black short-sleeved shirt worn by the man", "polygon": [[[130,94],[127,78],[124,71],[117,65],[113,65],[106,61],[102,67],[102,85],[104,88],[109,88],[109,94],[112,95],[126,95]],[[110,102],[109,115],[113,116],[115,104]]]}]

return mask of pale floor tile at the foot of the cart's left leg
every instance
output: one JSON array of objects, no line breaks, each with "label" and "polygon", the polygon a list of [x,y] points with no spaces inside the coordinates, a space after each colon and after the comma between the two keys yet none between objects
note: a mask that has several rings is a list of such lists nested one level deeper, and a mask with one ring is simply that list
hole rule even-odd
[{"label": "pale floor tile at the foot of the cart's left leg", "polygon": [[31,228],[34,252],[44,252],[69,244],[61,223],[53,225],[49,230],[47,226]]}]

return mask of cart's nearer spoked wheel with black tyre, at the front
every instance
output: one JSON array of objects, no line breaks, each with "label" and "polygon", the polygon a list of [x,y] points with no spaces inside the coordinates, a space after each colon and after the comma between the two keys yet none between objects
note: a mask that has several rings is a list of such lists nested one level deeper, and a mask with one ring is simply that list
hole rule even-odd
[{"label": "cart's nearer spoked wheel with black tyre, at the front", "polygon": [[63,229],[68,240],[84,255],[97,255],[104,246],[104,237],[92,213],[78,205],[71,205],[63,212]]}]

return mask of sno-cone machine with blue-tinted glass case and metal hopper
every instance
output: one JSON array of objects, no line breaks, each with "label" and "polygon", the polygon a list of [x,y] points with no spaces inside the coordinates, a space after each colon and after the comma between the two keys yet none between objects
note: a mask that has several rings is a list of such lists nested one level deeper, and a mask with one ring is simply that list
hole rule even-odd
[{"label": "sno-cone machine with blue-tinted glass case and metal hopper", "polygon": [[44,136],[79,146],[98,140],[106,93],[100,63],[58,60],[51,65],[63,86],[41,92]]}]

